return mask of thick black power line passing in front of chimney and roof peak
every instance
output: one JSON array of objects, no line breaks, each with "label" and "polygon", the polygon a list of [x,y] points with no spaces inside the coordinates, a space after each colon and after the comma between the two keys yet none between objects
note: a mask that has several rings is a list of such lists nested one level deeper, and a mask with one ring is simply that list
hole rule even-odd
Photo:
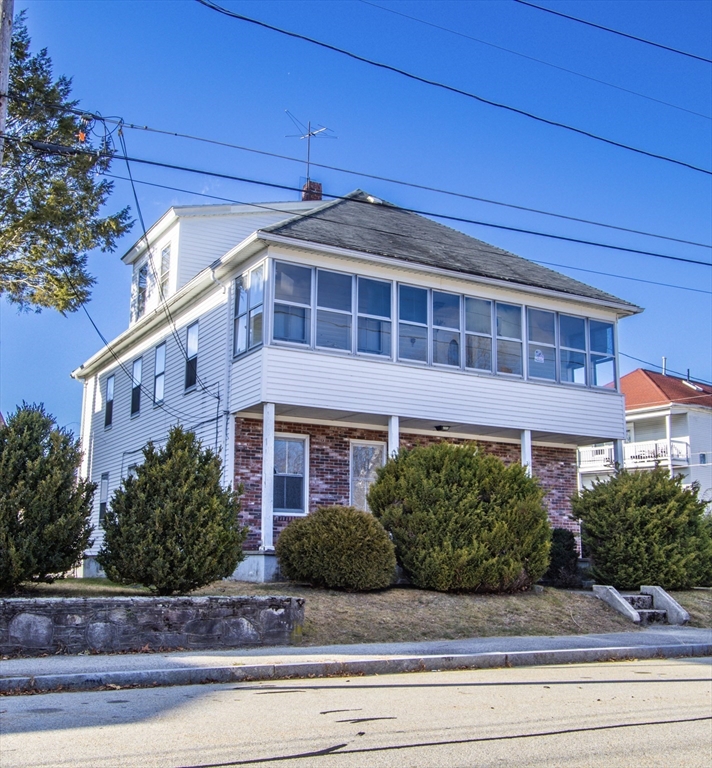
[{"label": "thick black power line passing in front of chimney and roof peak", "polygon": [[[33,146],[35,149],[38,149],[38,150],[43,151],[43,152],[48,152],[50,154],[100,154],[100,155],[104,154],[107,157],[115,158],[115,159],[118,159],[118,160],[126,160],[127,159],[127,156],[125,156],[125,155],[117,155],[115,153],[95,153],[95,152],[90,152],[90,151],[86,151],[86,150],[81,150],[81,149],[78,149],[76,147],[68,147],[68,146],[59,145],[59,144],[49,144],[49,143],[46,143],[46,142],[35,141],[33,139],[20,139],[17,136],[12,136],[10,134],[5,134],[5,138],[11,139],[13,141],[25,142],[25,143],[30,144],[31,146]],[[301,192],[302,191],[299,187],[293,187],[293,186],[291,186],[289,184],[277,184],[275,182],[261,181],[261,180],[258,180],[258,179],[251,179],[251,178],[248,178],[248,177],[245,177],[245,176],[236,176],[234,174],[229,174],[229,173],[220,173],[218,171],[206,171],[206,170],[203,170],[203,169],[200,169],[200,168],[190,168],[190,167],[183,166],[183,165],[177,165],[175,163],[165,163],[165,162],[161,162],[161,161],[158,161],[158,160],[147,160],[147,159],[139,158],[139,157],[129,157],[128,160],[130,162],[132,162],[132,163],[140,163],[142,165],[151,165],[151,166],[155,166],[157,168],[169,168],[171,170],[184,171],[184,172],[187,172],[187,173],[195,173],[195,174],[202,175],[202,176],[211,176],[211,177],[218,178],[218,179],[228,179],[230,181],[240,181],[240,182],[244,182],[246,184],[256,184],[256,185],[263,186],[263,187],[271,187],[273,189],[281,189],[281,190],[286,190],[286,191],[289,191],[289,192]],[[364,204],[364,205],[370,205],[371,204],[371,203],[366,202],[366,201],[355,200],[355,199],[352,199],[352,198],[346,198],[343,195],[334,195],[334,194],[324,193],[324,196],[328,197],[328,198],[331,198],[333,200],[346,200],[346,199],[348,199],[351,202],[354,202],[354,203],[357,203],[357,204]],[[699,259],[688,259],[688,258],[684,258],[682,256],[671,256],[671,255],[665,254],[665,253],[658,253],[656,251],[644,251],[644,250],[641,250],[641,249],[638,249],[638,248],[627,248],[627,247],[622,246],[622,245],[612,245],[610,243],[600,243],[600,242],[597,242],[595,240],[584,240],[582,238],[577,238],[577,237],[567,237],[565,235],[555,235],[555,234],[553,234],[551,232],[539,232],[537,230],[525,229],[523,227],[512,227],[512,226],[508,226],[508,225],[505,225],[505,224],[493,224],[491,222],[479,221],[477,219],[468,219],[468,218],[465,218],[464,216],[451,216],[451,215],[444,214],[444,213],[436,213],[436,212],[433,212],[433,211],[424,211],[424,210],[421,210],[421,209],[418,209],[418,208],[406,208],[406,207],[403,207],[403,206],[398,206],[398,209],[401,210],[401,211],[405,211],[407,213],[415,213],[415,214],[418,214],[420,216],[429,216],[429,217],[436,218],[436,219],[444,219],[446,221],[456,221],[456,222],[464,223],[464,224],[475,224],[475,225],[478,225],[478,226],[490,227],[492,229],[500,229],[500,230],[504,230],[504,231],[507,231],[507,232],[517,232],[517,233],[525,234],[525,235],[534,235],[534,236],[537,236],[537,237],[545,237],[545,238],[551,239],[551,240],[561,240],[563,242],[576,243],[578,245],[590,245],[590,246],[595,247],[595,248],[606,248],[606,249],[609,249],[609,250],[622,251],[624,253],[639,254],[639,255],[642,255],[642,256],[654,256],[656,258],[667,259],[669,261],[677,261],[677,262],[682,262],[682,263],[686,263],[686,264],[698,264],[698,265],[701,265],[701,266],[704,266],[704,267],[711,267],[712,266],[712,262],[709,262],[709,261],[701,261]]]}]

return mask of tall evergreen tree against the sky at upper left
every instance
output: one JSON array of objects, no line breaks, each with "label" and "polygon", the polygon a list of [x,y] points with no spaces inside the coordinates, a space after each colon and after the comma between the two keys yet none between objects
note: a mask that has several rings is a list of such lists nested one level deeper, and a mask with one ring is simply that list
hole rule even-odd
[{"label": "tall evergreen tree against the sky at upper left", "polygon": [[[76,101],[68,102],[70,92],[70,79],[53,79],[45,49],[30,53],[20,14],[13,28],[8,138],[0,168],[0,294],[22,309],[79,309],[94,283],[86,252],[113,250],[131,226],[128,208],[99,214],[113,186],[100,176],[109,168],[110,153],[105,145],[93,147],[87,123],[62,108],[76,107]],[[41,144],[96,152],[60,154]]]}]

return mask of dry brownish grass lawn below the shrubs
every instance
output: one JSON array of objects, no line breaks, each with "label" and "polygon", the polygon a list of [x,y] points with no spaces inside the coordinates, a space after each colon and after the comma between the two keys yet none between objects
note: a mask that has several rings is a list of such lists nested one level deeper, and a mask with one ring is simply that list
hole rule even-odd
[{"label": "dry brownish grass lawn below the shrubs", "polygon": [[[148,595],[106,579],[62,579],[23,590],[23,597]],[[198,595],[293,595],[306,599],[303,645],[451,640],[494,635],[571,635],[636,631],[590,593],[546,588],[543,594],[457,595],[412,587],[349,593],[289,583],[217,581]],[[712,626],[712,590],[675,592],[690,626]]]}]

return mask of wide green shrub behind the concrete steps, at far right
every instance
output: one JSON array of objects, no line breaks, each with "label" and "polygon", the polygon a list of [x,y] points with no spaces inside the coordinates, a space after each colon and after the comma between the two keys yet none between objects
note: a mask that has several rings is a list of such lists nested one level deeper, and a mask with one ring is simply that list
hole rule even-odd
[{"label": "wide green shrub behind the concrete steps, at far right", "polygon": [[667,469],[619,471],[573,500],[593,577],[618,589],[698,586],[709,578],[712,537],[698,488]]}]

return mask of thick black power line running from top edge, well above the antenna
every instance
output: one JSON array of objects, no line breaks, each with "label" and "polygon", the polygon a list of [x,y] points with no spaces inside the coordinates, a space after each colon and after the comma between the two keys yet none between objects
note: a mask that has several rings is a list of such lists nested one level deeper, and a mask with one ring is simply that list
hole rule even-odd
[{"label": "thick black power line running from top edge, well above the antenna", "polygon": [[576,133],[580,136],[586,136],[589,139],[595,139],[596,141],[601,141],[604,144],[609,144],[613,147],[618,147],[620,149],[627,149],[630,152],[635,152],[639,155],[644,155],[646,157],[652,157],[656,160],[664,160],[668,163],[673,163],[674,165],[679,165],[684,168],[689,168],[693,171],[698,171],[699,173],[705,173],[707,175],[712,176],[712,171],[708,170],[707,168],[701,168],[697,165],[693,165],[692,163],[686,163],[683,160],[676,160],[672,157],[667,157],[666,155],[659,155],[655,152],[649,152],[645,149],[640,149],[638,147],[633,147],[629,144],[624,144],[620,141],[615,141],[614,139],[608,139],[604,136],[599,136],[598,134],[592,133],[591,131],[586,131],[583,128],[575,128],[574,126],[567,125],[566,123],[560,123],[556,120],[550,120],[546,117],[541,117],[540,115],[535,115],[533,112],[527,112],[524,109],[519,109],[518,107],[512,107],[509,104],[503,104],[501,102],[492,101],[491,99],[486,99],[484,96],[478,96],[475,93],[471,93],[470,91],[462,90],[461,88],[456,88],[453,85],[447,85],[446,83],[441,83],[437,80],[430,80],[426,77],[421,77],[420,75],[413,74],[412,72],[408,72],[405,69],[400,69],[399,67],[394,67],[391,64],[384,64],[383,62],[374,61],[373,59],[369,59],[365,56],[360,56],[357,53],[353,53],[352,51],[348,51],[345,48],[338,48],[335,45],[331,45],[330,43],[324,43],[321,40],[316,40],[312,37],[307,37],[306,35],[301,35],[298,32],[291,32],[290,30],[281,29],[280,27],[276,27],[273,24],[267,24],[264,21],[258,21],[257,19],[250,18],[249,16],[244,16],[241,13],[235,13],[234,11],[229,11],[227,8],[223,8],[220,5],[217,5],[216,3],[213,3],[212,0],[196,0],[196,2],[200,3],[201,5],[204,5],[206,8],[210,8],[213,11],[216,11],[218,13],[221,13],[225,16],[229,16],[230,18],[237,19],[238,21],[246,21],[249,24],[254,24],[258,27],[262,27],[264,29],[269,29],[272,32],[279,32],[281,35],[286,35],[287,37],[292,37],[297,40],[303,40],[304,42],[311,43],[312,45],[317,45],[320,48],[325,48],[326,50],[333,51],[335,53],[340,53],[342,56],[348,56],[351,59],[354,59],[355,61],[360,61],[364,64],[370,64],[373,67],[378,67],[379,69],[384,69],[389,72],[394,72],[398,75],[402,75],[403,77],[407,77],[410,80],[415,80],[419,83],[424,83],[425,85],[431,85],[435,88],[441,88],[442,90],[449,91],[450,93],[455,93],[459,96],[465,96],[468,99],[474,99],[475,101],[480,102],[481,104],[488,104],[491,107],[497,107],[498,109],[505,109],[509,112],[514,112],[515,114],[522,115],[523,117],[528,117],[531,120],[536,120],[537,122],[544,123],[545,125],[554,126],[556,128],[563,128],[564,130],[571,131],[572,133]]}]

